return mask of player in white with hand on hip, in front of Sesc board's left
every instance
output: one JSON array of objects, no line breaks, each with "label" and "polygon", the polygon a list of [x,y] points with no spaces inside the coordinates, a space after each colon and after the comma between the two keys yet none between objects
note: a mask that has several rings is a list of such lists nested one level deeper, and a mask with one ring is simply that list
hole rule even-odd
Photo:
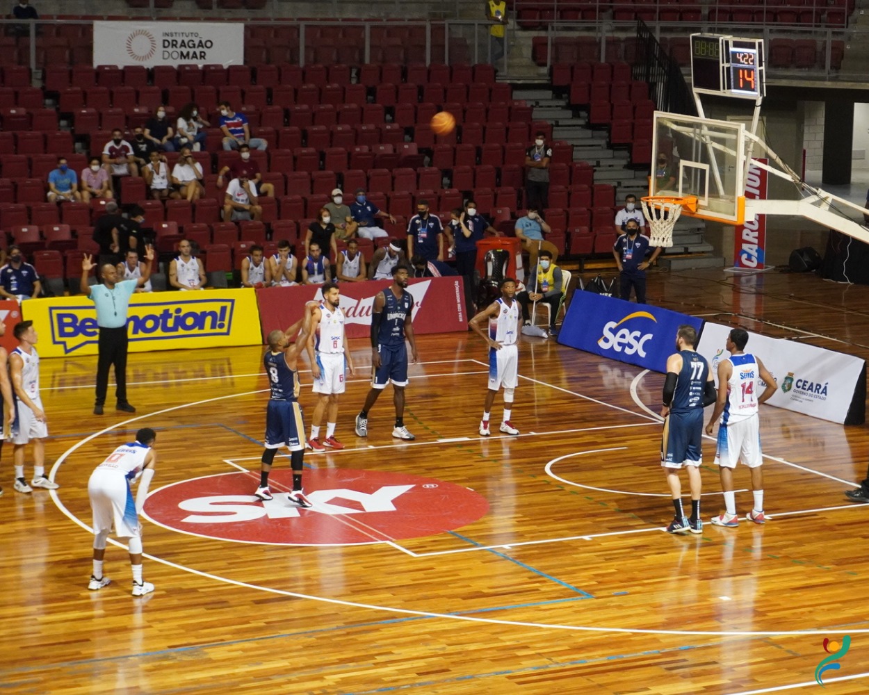
[{"label": "player in white with hand on hip, in front of Sesc board's left", "polygon": [[[504,387],[504,418],[499,429],[504,434],[519,434],[510,422],[513,408],[513,394],[519,386],[519,302],[515,299],[516,281],[512,277],[501,281],[501,298],[493,301],[487,308],[474,316],[470,327],[489,347],[489,381],[486,392],[486,405],[480,422],[480,434],[488,437],[489,412],[494,405],[498,389]],[[488,334],[483,332],[482,323],[488,321]]]}]

